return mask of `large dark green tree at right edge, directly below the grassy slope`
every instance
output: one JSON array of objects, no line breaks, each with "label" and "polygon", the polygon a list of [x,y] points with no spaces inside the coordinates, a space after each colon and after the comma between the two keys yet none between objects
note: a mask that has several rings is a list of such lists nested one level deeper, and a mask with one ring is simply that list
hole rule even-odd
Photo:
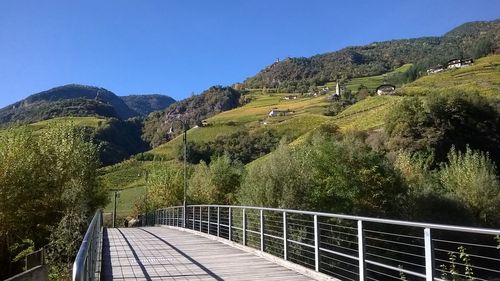
[{"label": "large dark green tree at right edge, directly below the grassy slope", "polygon": [[452,146],[489,152],[500,161],[500,114],[484,97],[452,92],[403,99],[386,116],[388,148],[433,153],[446,161]]}]

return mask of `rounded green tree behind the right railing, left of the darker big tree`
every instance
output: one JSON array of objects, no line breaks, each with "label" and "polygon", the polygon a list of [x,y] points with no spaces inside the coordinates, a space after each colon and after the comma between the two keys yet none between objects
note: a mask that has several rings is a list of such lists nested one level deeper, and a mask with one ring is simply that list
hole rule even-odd
[{"label": "rounded green tree behind the right railing, left of the darker big tree", "polygon": [[313,181],[310,200],[314,209],[395,216],[399,199],[406,190],[391,163],[382,153],[364,144],[362,138],[318,137],[305,149]]}]

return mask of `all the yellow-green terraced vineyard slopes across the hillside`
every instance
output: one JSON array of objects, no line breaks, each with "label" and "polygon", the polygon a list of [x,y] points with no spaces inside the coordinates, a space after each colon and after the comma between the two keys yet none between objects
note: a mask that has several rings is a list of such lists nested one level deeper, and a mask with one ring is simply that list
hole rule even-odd
[{"label": "all the yellow-green terraced vineyard slopes across the hillside", "polygon": [[[262,129],[273,129],[292,144],[300,144],[321,124],[335,124],[341,131],[379,129],[384,125],[385,115],[393,105],[403,99],[404,95],[429,94],[449,89],[478,91],[486,96],[500,97],[499,65],[499,55],[481,58],[471,67],[424,76],[404,85],[398,89],[400,95],[367,97],[333,117],[324,115],[330,104],[326,95],[319,97],[297,95],[296,99],[285,100],[285,97],[292,94],[264,94],[261,90],[254,89],[245,95],[250,101],[244,106],[206,119],[208,125],[205,127],[191,128],[188,131],[188,141],[206,143],[218,136],[228,136],[241,130],[252,133]],[[405,71],[408,67],[410,66],[405,65],[392,73]],[[375,88],[383,77],[381,75],[352,79],[348,87],[356,89],[362,83],[367,87]],[[269,117],[268,114],[272,109],[288,113],[284,116]],[[148,153],[164,161],[177,161],[176,157],[181,145],[182,137],[177,136]],[[256,161],[260,159],[263,157]],[[252,165],[252,163],[247,165]],[[133,201],[144,194],[145,182],[141,175],[150,165],[151,162],[148,161],[132,160],[103,169],[101,176],[103,181],[106,181],[112,188],[124,188],[118,202],[120,215],[127,215],[133,208]],[[107,210],[109,211],[110,208],[111,205],[107,207]]]}]

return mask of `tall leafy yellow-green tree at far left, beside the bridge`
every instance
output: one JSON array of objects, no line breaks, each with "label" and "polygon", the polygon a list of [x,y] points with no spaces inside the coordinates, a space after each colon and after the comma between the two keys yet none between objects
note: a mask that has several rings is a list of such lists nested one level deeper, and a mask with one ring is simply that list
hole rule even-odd
[{"label": "tall leafy yellow-green tree at far left, beside the bridge", "polygon": [[8,246],[25,239],[34,248],[48,243],[49,260],[69,270],[88,219],[106,203],[98,167],[97,146],[71,125],[38,132],[19,127],[0,134],[2,277],[18,269],[10,263],[17,253]]}]

